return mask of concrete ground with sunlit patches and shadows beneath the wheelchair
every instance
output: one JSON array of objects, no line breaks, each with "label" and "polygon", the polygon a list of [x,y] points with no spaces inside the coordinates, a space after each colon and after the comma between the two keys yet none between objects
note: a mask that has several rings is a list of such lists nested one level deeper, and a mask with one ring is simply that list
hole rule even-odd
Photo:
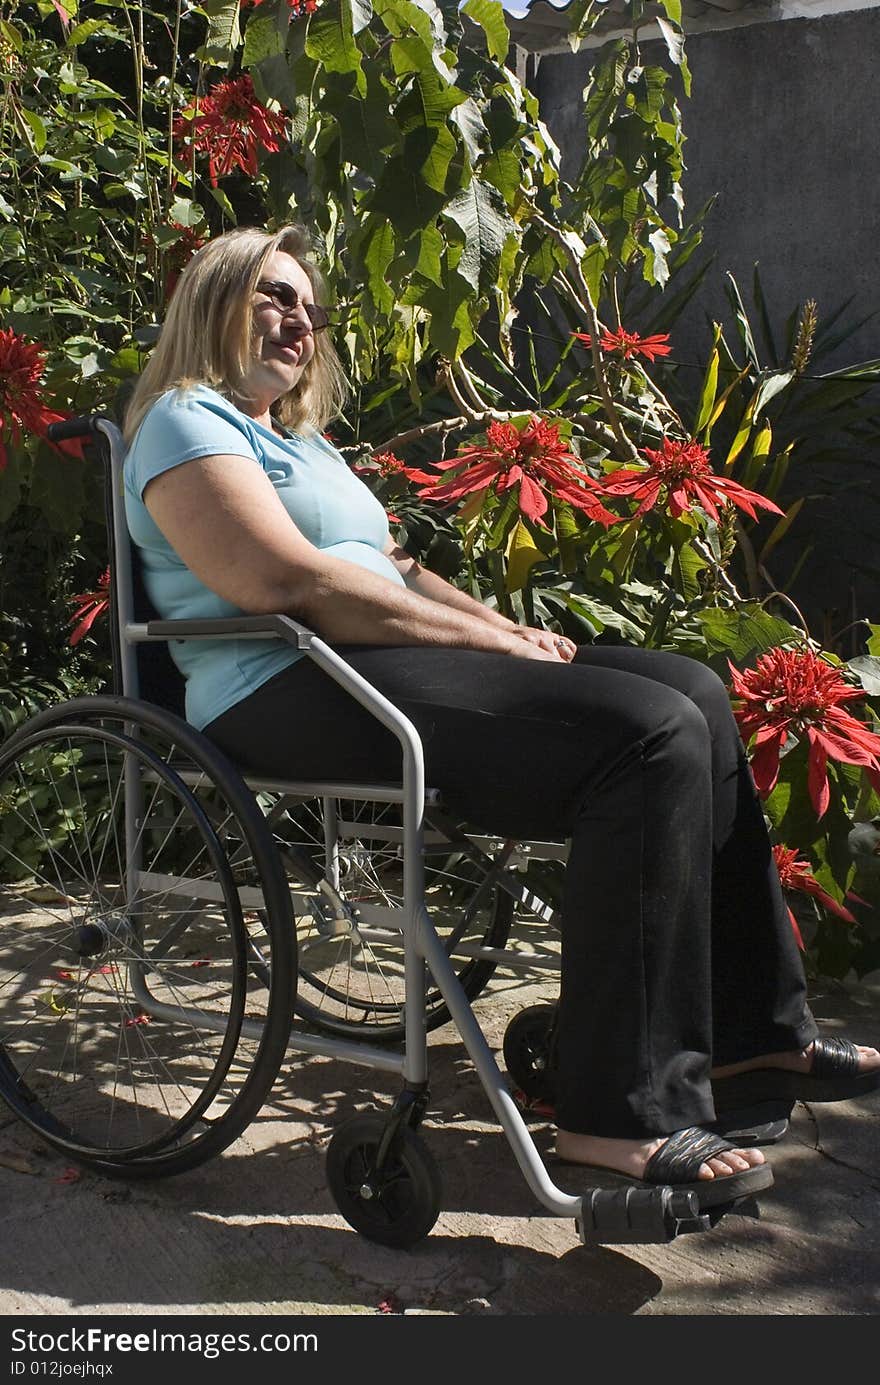
[{"label": "concrete ground with sunlit patches and shadows beneath the wheelchair", "polygon": [[[496,981],[475,1011],[507,1019],[553,988]],[[880,1039],[880,990],[815,989],[823,1032]],[[714,1230],[669,1245],[583,1246],[549,1216],[493,1122],[452,1026],[431,1037],[423,1133],[443,1179],[416,1249],[358,1237],[337,1213],[324,1148],[395,1079],[294,1055],[259,1119],[193,1173],[123,1184],[69,1170],[0,1114],[0,1314],[873,1314],[880,1309],[880,1093],[795,1107],[769,1151],[776,1181]],[[552,1127],[532,1122],[542,1154]],[[556,1174],[577,1191],[571,1170]]]}]

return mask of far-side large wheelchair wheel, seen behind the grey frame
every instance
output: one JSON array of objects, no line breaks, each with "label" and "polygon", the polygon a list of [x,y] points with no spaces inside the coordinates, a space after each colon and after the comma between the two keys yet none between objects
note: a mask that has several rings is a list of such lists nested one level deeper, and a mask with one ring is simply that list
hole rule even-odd
[{"label": "far-side large wheelchair wheel, seen behind the grey frame", "polygon": [[[335,885],[324,859],[327,823],[320,799],[297,803],[273,824],[294,882],[297,1014],[330,1035],[396,1043],[405,1035],[403,939],[399,924],[395,928],[391,921],[391,911],[403,903],[399,807],[335,801],[333,812]],[[425,832],[425,903],[464,993],[474,1000],[496,968],[495,958],[477,953],[504,947],[513,899],[479,859],[434,823]],[[448,1019],[446,1003],[428,978],[427,1028]]]}]

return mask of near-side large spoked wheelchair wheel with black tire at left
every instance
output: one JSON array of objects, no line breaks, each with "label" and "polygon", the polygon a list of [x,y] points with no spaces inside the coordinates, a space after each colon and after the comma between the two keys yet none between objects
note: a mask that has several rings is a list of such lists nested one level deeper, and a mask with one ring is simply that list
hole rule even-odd
[{"label": "near-side large spoked wheelchair wheel with black tire at left", "polygon": [[284,873],[204,737],[86,698],[0,748],[0,1096],[49,1144],[132,1177],[201,1163],[263,1104],[294,994]]}]

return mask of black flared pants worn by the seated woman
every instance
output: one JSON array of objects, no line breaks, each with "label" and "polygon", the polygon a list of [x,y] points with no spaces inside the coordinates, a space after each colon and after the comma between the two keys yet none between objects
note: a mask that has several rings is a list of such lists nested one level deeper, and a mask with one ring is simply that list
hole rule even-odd
[{"label": "black flared pants worn by the seated woman", "polygon": [[[340,652],[410,717],[427,781],[475,827],[570,837],[557,1123],[611,1137],[714,1119],[710,1065],[816,1036],[722,681],[676,654],[571,665],[449,648]],[[208,729],[247,769],[399,778],[401,751],[305,659]]]}]

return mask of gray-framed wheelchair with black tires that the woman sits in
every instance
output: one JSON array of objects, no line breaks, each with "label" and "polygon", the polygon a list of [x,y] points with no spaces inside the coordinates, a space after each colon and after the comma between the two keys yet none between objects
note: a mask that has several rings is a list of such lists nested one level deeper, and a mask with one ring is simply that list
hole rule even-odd
[{"label": "gray-framed wheelchair with black tires that the woman sits in", "polygon": [[[718,1210],[672,1187],[558,1188],[471,1008],[499,964],[558,970],[556,909],[535,881],[565,845],[448,817],[412,723],[291,618],[157,619],[129,544],[119,429],[98,414],[53,429],[90,438],[107,468],[118,691],[42,711],[0,745],[4,1102],[71,1161],[154,1179],[227,1148],[288,1053],[396,1075],[391,1109],[333,1133],[326,1174],[355,1231],[409,1248],[442,1202],[420,1123],[427,1035],[452,1022],[528,1187],[582,1242],[714,1224]],[[396,737],[399,783],[243,774],[183,720],[168,654],[233,637],[302,650]],[[529,1007],[504,1037],[527,1097],[546,1080],[552,1015]]]}]

